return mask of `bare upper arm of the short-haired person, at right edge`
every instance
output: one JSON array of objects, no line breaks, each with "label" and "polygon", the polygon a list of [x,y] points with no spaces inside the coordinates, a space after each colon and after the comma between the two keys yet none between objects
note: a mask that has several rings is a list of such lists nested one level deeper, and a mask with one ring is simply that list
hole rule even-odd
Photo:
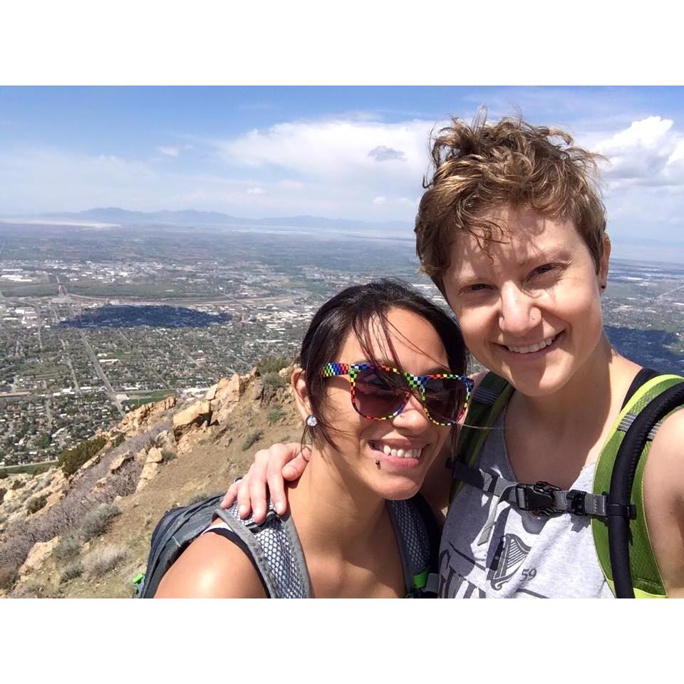
[{"label": "bare upper arm of the short-haired person, at right edge", "polygon": [[648,453],[644,504],[653,552],[670,596],[684,596],[684,410],[663,421]]}]

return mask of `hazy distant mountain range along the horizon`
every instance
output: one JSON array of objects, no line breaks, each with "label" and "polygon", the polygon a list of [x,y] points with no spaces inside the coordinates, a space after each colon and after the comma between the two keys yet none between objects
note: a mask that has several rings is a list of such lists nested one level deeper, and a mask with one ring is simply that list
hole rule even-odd
[{"label": "hazy distant mountain range along the horizon", "polygon": [[[30,217],[22,217],[27,222]],[[178,225],[184,226],[241,226],[241,227],[281,227],[281,228],[326,228],[348,231],[371,231],[386,232],[401,231],[410,233],[413,231],[413,222],[387,221],[366,222],[349,219],[326,219],[316,216],[291,216],[276,217],[271,219],[245,219],[221,214],[219,212],[198,212],[195,209],[187,209],[181,212],[129,212],[127,209],[118,207],[100,207],[88,209],[85,212],[66,212],[61,214],[40,214],[37,217],[41,222],[55,220],[60,222],[74,221],[113,223],[121,225]]]}]

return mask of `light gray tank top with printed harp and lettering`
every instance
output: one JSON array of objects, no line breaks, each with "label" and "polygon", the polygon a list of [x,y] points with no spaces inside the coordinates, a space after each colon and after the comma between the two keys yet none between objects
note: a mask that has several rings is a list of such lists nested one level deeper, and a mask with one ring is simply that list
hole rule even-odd
[{"label": "light gray tank top with printed harp and lettering", "polygon": [[[478,467],[516,480],[499,415],[480,452]],[[591,492],[595,464],[569,489]],[[478,544],[491,494],[464,484],[450,508],[440,546],[442,598],[612,598],[598,565],[590,518],[540,517],[508,502],[497,506],[489,541]]]}]

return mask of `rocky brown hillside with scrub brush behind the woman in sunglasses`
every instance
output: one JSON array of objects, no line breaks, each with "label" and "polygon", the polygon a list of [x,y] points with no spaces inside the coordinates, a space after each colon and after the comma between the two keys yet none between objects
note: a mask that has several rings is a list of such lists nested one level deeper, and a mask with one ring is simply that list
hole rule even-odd
[{"label": "rocky brown hillside with scrub brush behind the woman in sunglasses", "polygon": [[143,405],[73,475],[0,480],[0,597],[133,596],[167,509],[224,492],[261,445],[299,440],[290,373],[254,368],[202,400]]}]

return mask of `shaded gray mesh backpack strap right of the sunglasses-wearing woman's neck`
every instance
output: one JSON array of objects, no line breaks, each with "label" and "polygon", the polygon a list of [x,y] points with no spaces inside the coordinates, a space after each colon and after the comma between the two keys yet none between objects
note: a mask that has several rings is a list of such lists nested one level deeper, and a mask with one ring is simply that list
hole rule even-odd
[{"label": "shaded gray mesh backpack strap right of the sunglasses-wearing woman's neck", "polygon": [[425,589],[430,573],[430,544],[423,519],[409,500],[386,502],[404,571],[406,594]]}]

